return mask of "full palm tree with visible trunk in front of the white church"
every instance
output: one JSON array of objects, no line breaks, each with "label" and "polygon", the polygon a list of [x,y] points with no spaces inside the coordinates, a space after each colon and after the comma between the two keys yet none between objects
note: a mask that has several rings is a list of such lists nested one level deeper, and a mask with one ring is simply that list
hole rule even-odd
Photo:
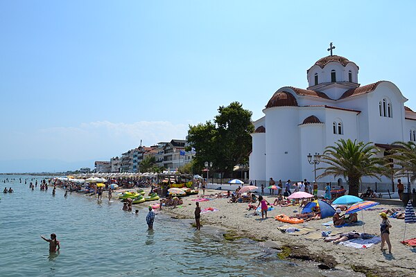
[{"label": "full palm tree with visible trunk in front of the white church", "polygon": [[327,163],[326,168],[319,177],[343,176],[347,179],[349,195],[358,196],[361,177],[376,177],[383,174],[384,168],[381,167],[385,162],[376,157],[378,150],[372,143],[363,143],[347,139],[340,139],[335,143],[336,146],[325,148],[321,161]]}]

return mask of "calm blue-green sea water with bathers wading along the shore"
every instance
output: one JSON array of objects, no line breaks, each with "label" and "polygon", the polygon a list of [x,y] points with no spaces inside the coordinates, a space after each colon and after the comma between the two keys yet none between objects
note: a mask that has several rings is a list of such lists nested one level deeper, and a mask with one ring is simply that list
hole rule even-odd
[{"label": "calm blue-green sea water with bathers wading along the shore", "polygon": [[[6,178],[15,181],[3,183]],[[19,178],[22,182],[19,183]],[[28,188],[37,179],[35,190]],[[27,184],[24,180],[27,179]],[[33,184],[35,184],[35,179]],[[153,231],[146,206],[139,215],[113,199],[57,189],[40,191],[42,177],[0,175],[0,276],[351,276],[320,271],[308,262],[288,262],[258,242],[228,242],[221,232],[157,213]],[[2,189],[3,190],[3,189]],[[1,191],[2,191],[1,190]],[[40,238],[56,233],[59,253]]]}]

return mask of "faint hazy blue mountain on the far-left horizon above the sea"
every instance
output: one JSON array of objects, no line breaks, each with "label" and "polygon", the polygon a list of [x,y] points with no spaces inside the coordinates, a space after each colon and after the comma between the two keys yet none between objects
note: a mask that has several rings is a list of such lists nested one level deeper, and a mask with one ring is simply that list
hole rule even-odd
[{"label": "faint hazy blue mountain on the far-left horizon above the sea", "polygon": [[94,168],[94,160],[60,161],[50,159],[24,159],[0,161],[0,173],[15,172],[65,172],[80,168]]}]

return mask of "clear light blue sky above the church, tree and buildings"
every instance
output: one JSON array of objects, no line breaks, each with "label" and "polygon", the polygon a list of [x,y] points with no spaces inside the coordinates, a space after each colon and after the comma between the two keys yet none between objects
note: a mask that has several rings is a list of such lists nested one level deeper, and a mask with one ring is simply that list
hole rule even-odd
[{"label": "clear light blue sky above the church, tree and buildings", "polygon": [[0,0],[0,172],[94,168],[185,139],[239,101],[253,120],[321,57],[416,109],[415,1]]}]

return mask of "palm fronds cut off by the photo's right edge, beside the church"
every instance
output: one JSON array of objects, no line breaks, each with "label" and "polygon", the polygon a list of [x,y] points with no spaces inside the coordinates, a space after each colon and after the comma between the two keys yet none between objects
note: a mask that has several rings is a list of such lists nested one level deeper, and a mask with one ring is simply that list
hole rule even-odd
[{"label": "palm fronds cut off by the photo's right edge, beside the church", "polygon": [[392,143],[393,149],[390,150],[394,155],[395,172],[400,177],[409,176],[410,181],[416,181],[416,143],[413,141],[395,141]]}]

